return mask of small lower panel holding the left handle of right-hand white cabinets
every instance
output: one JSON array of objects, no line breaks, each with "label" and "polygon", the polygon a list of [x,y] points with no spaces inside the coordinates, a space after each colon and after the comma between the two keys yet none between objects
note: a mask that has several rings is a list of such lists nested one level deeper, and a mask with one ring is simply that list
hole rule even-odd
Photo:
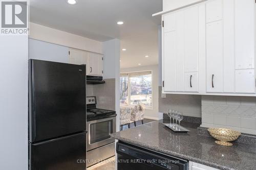
[{"label": "small lower panel holding the left handle of right-hand white cabinets", "polygon": [[186,92],[198,92],[198,72],[186,72],[184,79]]}]

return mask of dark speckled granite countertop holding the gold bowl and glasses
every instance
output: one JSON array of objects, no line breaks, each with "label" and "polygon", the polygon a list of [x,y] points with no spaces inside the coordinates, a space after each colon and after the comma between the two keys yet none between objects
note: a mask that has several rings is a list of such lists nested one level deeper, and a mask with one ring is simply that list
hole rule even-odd
[{"label": "dark speckled granite countertop holding the gold bowl and glasses", "polygon": [[177,133],[165,127],[163,122],[167,123],[165,120],[156,120],[111,134],[111,137],[218,169],[256,169],[254,144],[232,142],[232,147],[225,147],[216,144],[212,137],[197,135],[200,124],[183,122],[181,125],[190,132]]}]

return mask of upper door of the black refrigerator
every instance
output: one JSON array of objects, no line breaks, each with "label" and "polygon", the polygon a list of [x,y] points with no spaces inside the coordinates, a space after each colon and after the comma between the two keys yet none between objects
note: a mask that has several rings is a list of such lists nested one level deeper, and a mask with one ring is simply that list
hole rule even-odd
[{"label": "upper door of the black refrigerator", "polygon": [[29,61],[29,140],[86,130],[86,66]]}]

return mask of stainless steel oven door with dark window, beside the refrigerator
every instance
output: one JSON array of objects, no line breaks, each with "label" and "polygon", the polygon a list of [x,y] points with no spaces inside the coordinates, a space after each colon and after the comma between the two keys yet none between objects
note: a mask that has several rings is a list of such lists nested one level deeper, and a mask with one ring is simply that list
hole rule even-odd
[{"label": "stainless steel oven door with dark window, beside the refrigerator", "polygon": [[116,132],[116,117],[89,121],[87,130],[87,151],[115,142],[110,134]]}]

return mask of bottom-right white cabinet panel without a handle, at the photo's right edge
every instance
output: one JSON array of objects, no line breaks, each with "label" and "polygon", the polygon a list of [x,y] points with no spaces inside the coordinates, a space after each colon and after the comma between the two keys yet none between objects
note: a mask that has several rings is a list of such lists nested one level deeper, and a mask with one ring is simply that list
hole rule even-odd
[{"label": "bottom-right white cabinet panel without a handle, at the photo's right edge", "polygon": [[236,92],[255,93],[254,69],[236,70]]}]

